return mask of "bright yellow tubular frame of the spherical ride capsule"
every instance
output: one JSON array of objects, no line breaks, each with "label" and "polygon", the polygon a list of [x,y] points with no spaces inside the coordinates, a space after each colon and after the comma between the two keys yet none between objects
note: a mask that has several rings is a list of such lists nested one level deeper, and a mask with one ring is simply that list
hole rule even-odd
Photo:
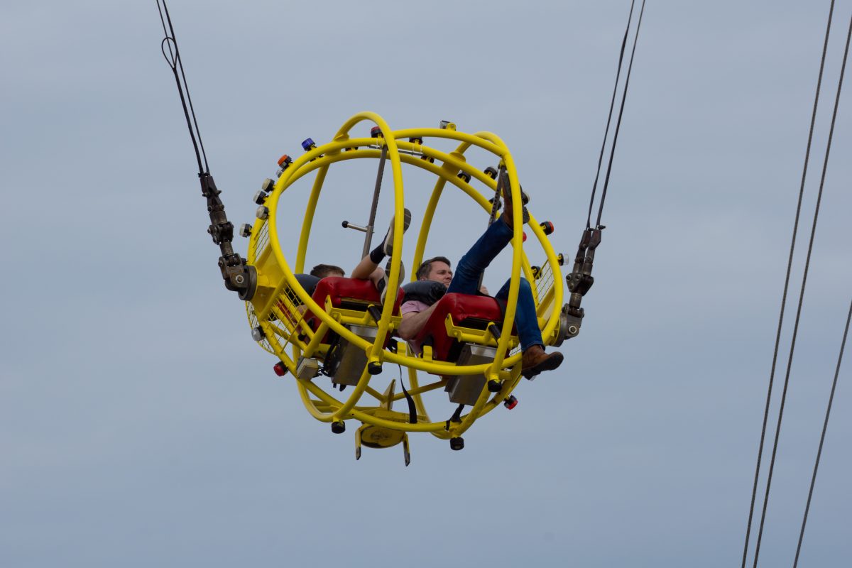
[{"label": "bright yellow tubular frame of the spherical ride capsule", "polygon": [[[378,138],[349,138],[349,131],[361,122],[371,122],[377,125],[381,130],[381,135]],[[412,144],[407,141],[409,138],[420,138],[425,141],[427,138],[444,138],[459,142],[458,147],[450,152],[440,152],[429,146],[420,144]],[[313,380],[296,380],[299,394],[302,397],[302,403],[308,412],[320,422],[336,422],[354,418],[379,427],[387,427],[394,430],[404,430],[407,432],[430,432],[435,436],[443,439],[452,438],[466,431],[480,416],[493,410],[500,402],[502,402],[509,393],[515,388],[521,378],[520,359],[521,353],[515,353],[504,359],[504,354],[508,353],[511,341],[511,330],[515,321],[515,309],[517,305],[518,292],[520,290],[521,272],[531,282],[534,282],[530,263],[527,260],[527,255],[524,254],[522,248],[522,222],[521,208],[514,209],[514,234],[512,235],[512,273],[509,280],[509,297],[507,298],[506,313],[504,316],[503,327],[500,338],[497,341],[497,356],[490,364],[478,365],[452,365],[446,362],[433,361],[431,359],[418,358],[417,356],[407,353],[407,350],[400,349],[400,353],[390,353],[383,350],[385,338],[392,330],[392,310],[393,302],[387,302],[382,309],[382,315],[377,322],[377,336],[375,341],[369,342],[354,335],[341,323],[340,314],[328,313],[324,309],[325,306],[317,304],[307,292],[302,289],[302,286],[296,281],[294,273],[301,273],[304,269],[305,256],[308,250],[308,241],[310,238],[311,226],[314,221],[314,213],[319,204],[320,193],[322,192],[325,175],[328,172],[331,164],[359,158],[379,158],[381,155],[380,149],[377,146],[387,147],[387,158],[390,162],[390,169],[394,181],[394,250],[402,250],[403,238],[403,209],[404,192],[402,181],[402,164],[409,164],[425,169],[436,175],[438,178],[435,183],[435,188],[429,198],[429,204],[423,212],[423,222],[421,224],[420,233],[417,238],[417,246],[414,251],[414,259],[412,267],[418,267],[423,261],[423,251],[429,238],[429,228],[432,225],[432,220],[437,209],[440,196],[444,191],[447,182],[457,186],[460,190],[473,198],[477,204],[486,211],[491,210],[491,204],[488,199],[479,191],[477,191],[468,182],[458,178],[458,172],[462,171],[471,177],[471,181],[477,180],[484,184],[488,190],[494,192],[496,189],[496,181],[484,174],[480,169],[475,169],[467,163],[464,158],[466,152],[471,146],[477,146],[491,152],[498,158],[501,164],[505,165],[509,175],[511,184],[512,200],[515,203],[521,202],[520,184],[518,175],[515,169],[515,162],[509,152],[509,149],[497,135],[490,132],[477,132],[474,135],[469,135],[458,130],[451,129],[402,129],[391,130],[383,118],[373,112],[360,112],[354,117],[349,118],[346,123],[337,131],[333,141],[317,146],[314,149],[305,152],[299,158],[293,160],[292,164],[284,170],[278,181],[275,183],[273,192],[268,197],[265,205],[269,209],[268,220],[258,220],[255,227],[252,229],[252,236],[249,242],[249,262],[255,264],[256,260],[261,257],[266,251],[271,250],[274,255],[274,260],[277,262],[276,270],[283,273],[283,278],[278,282],[268,282],[270,278],[262,273],[258,274],[260,281],[268,286],[273,286],[272,295],[268,295],[267,301],[258,301],[257,303],[247,302],[247,310],[249,313],[250,322],[260,324],[264,333],[268,336],[281,335],[281,328],[276,328],[274,322],[269,320],[270,314],[273,313],[273,307],[276,302],[285,294],[286,290],[291,290],[291,295],[295,294],[300,301],[307,307],[309,312],[314,313],[320,318],[321,328],[317,333],[310,334],[311,339],[306,345],[302,341],[290,341],[280,343],[279,341],[264,341],[262,347],[269,350],[271,347],[273,353],[285,364],[286,368],[295,376],[296,363],[302,353],[302,347],[307,348],[307,353],[313,352],[319,346],[325,330],[331,330],[343,337],[343,339],[352,343],[355,347],[363,349],[367,355],[369,363],[389,362],[391,364],[400,364],[408,368],[409,382],[412,387],[412,397],[417,407],[417,414],[425,416],[428,421],[428,413],[421,393],[433,390],[440,387],[442,382],[433,382],[425,387],[419,387],[417,381],[417,371],[425,371],[432,375],[480,375],[484,374],[487,379],[503,379],[503,389],[489,399],[490,393],[483,389],[479,399],[469,413],[462,417],[461,422],[453,422],[451,427],[446,427],[446,422],[418,422],[417,424],[409,424],[404,422],[394,422],[391,420],[371,416],[371,410],[375,407],[359,407],[356,406],[364,393],[368,393],[371,397],[379,400],[379,404],[387,402],[383,400],[383,395],[378,393],[376,389],[369,387],[371,376],[367,373],[366,368],[361,373],[358,384],[354,387],[354,391],[345,401],[338,400],[326,393],[323,388],[315,384]],[[400,153],[400,149],[410,153]],[[440,162],[440,165],[435,165],[427,159],[420,157],[423,155],[428,158],[434,158],[435,162]],[[314,178],[314,184],[311,188],[308,198],[308,205],[305,209],[304,221],[302,222],[302,232],[299,236],[299,242],[296,250],[295,271],[291,269],[290,264],[285,259],[281,243],[279,242],[278,234],[278,205],[281,196],[285,190],[291,186],[296,180],[303,175],[308,175],[316,170],[317,174]],[[538,238],[539,244],[544,249],[546,261],[550,264],[550,269],[553,273],[554,284],[552,290],[552,298],[556,307],[562,303],[562,277],[561,267],[556,259],[556,253],[550,245],[550,241],[544,235],[544,231],[539,227],[538,222],[533,216],[530,216],[530,229]],[[258,234],[261,230],[268,231],[268,242],[259,244]],[[259,247],[262,246],[262,249]],[[394,297],[396,290],[400,286],[400,257],[401,255],[393,255],[391,257],[391,267],[388,283],[388,297]],[[268,258],[268,257],[267,257]],[[412,274],[412,279],[414,275]],[[533,285],[534,300],[537,303],[539,298],[536,296],[535,286]],[[547,290],[545,295],[550,296],[550,290]],[[285,304],[291,306],[291,302]],[[278,308],[280,309],[280,307]],[[331,310],[334,312],[334,310]],[[297,314],[291,314],[294,317],[299,317]],[[559,324],[559,310],[551,310],[550,317],[544,322],[542,327],[542,336],[545,343],[549,342],[554,336],[556,327]],[[292,335],[292,334],[291,334]],[[490,337],[490,334],[488,335]],[[291,347],[291,353],[285,352],[287,347]],[[508,369],[508,370],[507,370]],[[313,397],[311,396],[313,395]],[[394,399],[400,399],[401,395],[396,395]]]}]

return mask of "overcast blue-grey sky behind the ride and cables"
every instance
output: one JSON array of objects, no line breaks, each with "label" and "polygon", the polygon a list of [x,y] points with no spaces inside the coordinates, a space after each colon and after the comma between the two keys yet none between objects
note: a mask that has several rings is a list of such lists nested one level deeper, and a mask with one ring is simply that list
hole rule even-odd
[{"label": "overcast blue-grey sky behind the ride and cables", "polygon": [[[235,224],[253,220],[281,153],[371,110],[394,129],[448,119],[500,135],[533,214],[573,255],[629,5],[170,10]],[[0,565],[739,566],[828,5],[648,2],[566,363],[522,382],[518,407],[477,422],[463,451],[412,435],[405,468],[399,447],[355,462],[357,423],[336,436],[308,416],[222,287],[156,3],[3,4]],[[838,0],[788,307],[850,14]],[[849,307],[850,102],[848,88],[764,566],[792,565]],[[368,165],[332,168],[309,265],[358,260],[340,221],[366,221]],[[417,229],[430,181],[405,175]],[[304,192],[293,199],[282,232],[301,223]],[[448,197],[427,254],[458,259],[485,224]],[[501,257],[486,285],[508,267]],[[850,378],[847,364],[802,566],[852,561]],[[783,366],[776,393],[782,379]]]}]

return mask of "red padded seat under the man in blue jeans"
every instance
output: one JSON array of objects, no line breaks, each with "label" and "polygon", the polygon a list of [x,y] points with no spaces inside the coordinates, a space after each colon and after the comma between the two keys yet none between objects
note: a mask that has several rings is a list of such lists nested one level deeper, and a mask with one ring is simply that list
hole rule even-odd
[{"label": "red padded seat under the man in blue jeans", "polygon": [[490,322],[498,325],[503,322],[503,310],[491,296],[444,295],[423,330],[414,338],[420,344],[431,345],[433,356],[440,361],[455,361],[462,347],[455,338],[446,335],[444,321],[448,314],[452,315],[453,324],[475,330],[485,330]]}]

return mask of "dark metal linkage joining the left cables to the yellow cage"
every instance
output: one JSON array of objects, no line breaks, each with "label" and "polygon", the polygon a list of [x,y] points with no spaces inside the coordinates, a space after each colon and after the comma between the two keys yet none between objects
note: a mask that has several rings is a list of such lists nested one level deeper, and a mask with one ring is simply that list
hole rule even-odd
[{"label": "dark metal linkage joining the left cables to the yellow cage", "polygon": [[201,194],[207,198],[207,212],[210,214],[210,227],[207,232],[213,242],[219,245],[222,256],[219,257],[219,269],[225,288],[239,294],[240,300],[249,301],[255,295],[257,288],[257,273],[255,267],[246,264],[245,258],[233,252],[233,223],[227,220],[225,205],[216,189],[216,181],[207,173],[199,174]]}]

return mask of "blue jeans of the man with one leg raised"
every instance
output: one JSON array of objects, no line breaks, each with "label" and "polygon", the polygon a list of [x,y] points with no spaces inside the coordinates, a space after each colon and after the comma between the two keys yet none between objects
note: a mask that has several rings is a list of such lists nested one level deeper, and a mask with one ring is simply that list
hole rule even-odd
[{"label": "blue jeans of the man with one leg raised", "polygon": [[[480,274],[485,271],[491,261],[506,248],[512,240],[512,229],[498,218],[488,227],[488,230],[477,240],[467,254],[458,261],[456,273],[452,276],[452,282],[446,289],[447,294],[476,294],[479,290]],[[503,284],[495,298],[505,300],[509,297],[509,280]],[[521,339],[521,348],[526,351],[533,345],[544,346],[541,341],[541,330],[538,330],[538,318],[535,314],[535,302],[533,301],[533,290],[526,279],[521,278],[521,288],[518,290],[518,304],[515,308],[515,327],[518,337]]]}]

